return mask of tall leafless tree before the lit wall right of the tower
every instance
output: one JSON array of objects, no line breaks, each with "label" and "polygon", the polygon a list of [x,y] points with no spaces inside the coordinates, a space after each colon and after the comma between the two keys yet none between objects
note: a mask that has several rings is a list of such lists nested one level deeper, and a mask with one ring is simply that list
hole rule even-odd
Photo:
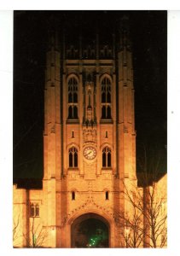
[{"label": "tall leafless tree before the lit wall right of the tower", "polygon": [[138,187],[132,184],[131,189],[125,186],[124,196],[129,202],[131,211],[120,214],[124,219],[126,247],[165,247],[167,242],[166,189],[160,189],[160,154],[151,155],[148,159],[144,147],[141,161],[142,172],[138,175]]}]

